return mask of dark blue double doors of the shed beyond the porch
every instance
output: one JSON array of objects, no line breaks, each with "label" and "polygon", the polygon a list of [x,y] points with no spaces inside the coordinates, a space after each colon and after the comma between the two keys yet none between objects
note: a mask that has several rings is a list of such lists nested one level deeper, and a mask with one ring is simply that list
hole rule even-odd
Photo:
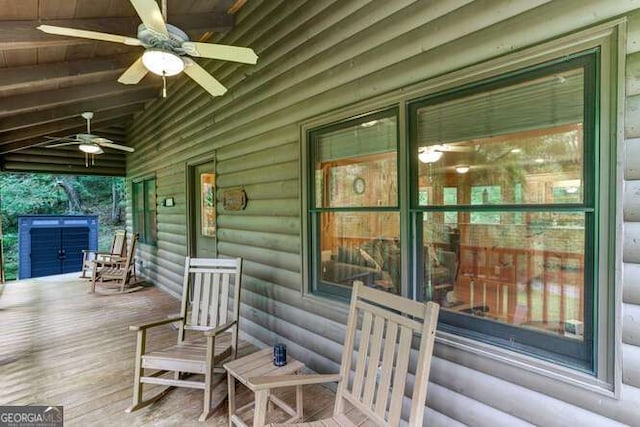
[{"label": "dark blue double doors of the shed beyond the porch", "polygon": [[32,228],[31,277],[82,270],[82,250],[89,247],[89,228]]}]

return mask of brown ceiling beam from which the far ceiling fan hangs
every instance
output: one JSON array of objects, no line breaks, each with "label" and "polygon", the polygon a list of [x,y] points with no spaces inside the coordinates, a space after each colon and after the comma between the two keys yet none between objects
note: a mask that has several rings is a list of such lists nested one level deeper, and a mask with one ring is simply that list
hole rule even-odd
[{"label": "brown ceiling beam from which the far ceiling fan hangs", "polygon": [[[46,110],[31,111],[0,118],[0,133],[37,126],[56,120],[78,117],[83,111],[93,111],[95,116],[99,117],[102,111],[110,108],[141,104],[158,98],[158,89],[156,87],[138,86],[139,85],[132,87],[120,94],[77,101]],[[139,109],[142,110],[142,106],[139,106]]]}]

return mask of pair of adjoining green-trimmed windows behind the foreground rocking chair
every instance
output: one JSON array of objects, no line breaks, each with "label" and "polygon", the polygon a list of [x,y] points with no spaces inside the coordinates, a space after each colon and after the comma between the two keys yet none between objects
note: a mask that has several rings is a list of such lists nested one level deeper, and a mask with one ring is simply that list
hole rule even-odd
[{"label": "pair of adjoining green-trimmed windows behind the foreground rocking chair", "polygon": [[599,61],[594,48],[309,130],[311,291],[348,297],[357,280],[433,300],[465,343],[603,378]]}]

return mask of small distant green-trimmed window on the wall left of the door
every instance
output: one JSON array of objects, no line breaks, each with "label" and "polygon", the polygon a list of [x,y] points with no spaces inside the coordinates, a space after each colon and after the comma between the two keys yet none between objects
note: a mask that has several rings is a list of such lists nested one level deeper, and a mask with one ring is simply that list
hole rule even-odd
[{"label": "small distant green-trimmed window on the wall left of the door", "polygon": [[155,245],[158,241],[156,218],[156,179],[147,178],[133,182],[133,232],[139,241]]}]

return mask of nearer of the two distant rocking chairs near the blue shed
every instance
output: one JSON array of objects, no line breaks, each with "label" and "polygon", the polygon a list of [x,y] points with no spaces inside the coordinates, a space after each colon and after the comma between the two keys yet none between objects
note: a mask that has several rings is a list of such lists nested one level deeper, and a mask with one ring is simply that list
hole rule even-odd
[{"label": "nearer of the two distant rocking chairs near the blue shed", "polygon": [[131,238],[131,248],[127,251],[127,256],[116,257],[110,259],[95,259],[92,261],[91,267],[91,289],[90,292],[96,291],[96,285],[100,284],[102,294],[113,294],[123,292],[134,292],[142,289],[142,286],[130,286],[131,279],[135,276],[135,253],[136,244],[138,243],[138,233]]}]

